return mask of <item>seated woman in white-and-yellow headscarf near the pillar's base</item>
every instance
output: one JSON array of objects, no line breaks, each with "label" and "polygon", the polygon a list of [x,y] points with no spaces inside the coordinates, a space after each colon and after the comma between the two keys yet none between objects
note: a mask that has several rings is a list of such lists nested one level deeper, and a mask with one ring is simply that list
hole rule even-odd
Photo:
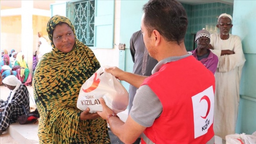
[{"label": "seated woman in white-and-yellow headscarf near the pillar's base", "polygon": [[17,78],[21,80],[21,83],[28,85],[32,81],[32,76],[29,72],[28,66],[26,61],[24,60],[24,54],[23,53],[18,53],[16,57],[16,62],[14,66],[19,65],[20,68],[16,69],[17,71]]}]

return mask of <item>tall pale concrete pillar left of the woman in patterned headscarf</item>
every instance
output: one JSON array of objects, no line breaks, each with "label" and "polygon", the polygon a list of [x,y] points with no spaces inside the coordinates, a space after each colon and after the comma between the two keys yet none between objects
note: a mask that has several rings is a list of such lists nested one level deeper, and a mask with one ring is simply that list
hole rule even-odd
[{"label": "tall pale concrete pillar left of the woman in patterned headscarf", "polygon": [[32,74],[33,64],[33,0],[21,0],[21,51],[30,73]]}]

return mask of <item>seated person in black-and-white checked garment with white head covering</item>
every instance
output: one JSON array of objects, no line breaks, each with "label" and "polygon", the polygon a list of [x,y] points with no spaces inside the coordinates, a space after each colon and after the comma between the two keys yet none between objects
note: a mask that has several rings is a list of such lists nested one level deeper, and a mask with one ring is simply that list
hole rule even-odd
[{"label": "seated person in black-and-white checked garment with white head covering", "polygon": [[5,77],[2,82],[11,91],[7,101],[0,100],[0,135],[11,123],[16,122],[19,116],[25,114],[22,105],[26,107],[27,112],[30,112],[29,92],[26,85],[21,84],[21,81],[14,75]]}]

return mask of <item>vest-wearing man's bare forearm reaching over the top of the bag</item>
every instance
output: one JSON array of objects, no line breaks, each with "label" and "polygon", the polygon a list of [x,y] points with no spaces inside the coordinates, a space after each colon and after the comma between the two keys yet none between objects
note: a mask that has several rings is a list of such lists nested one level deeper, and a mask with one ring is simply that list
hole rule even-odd
[{"label": "vest-wearing man's bare forearm reaching over the top of the bag", "polygon": [[139,88],[143,81],[148,77],[125,72],[117,67],[110,67],[105,69],[105,71],[114,75],[118,80],[124,80],[137,88]]}]

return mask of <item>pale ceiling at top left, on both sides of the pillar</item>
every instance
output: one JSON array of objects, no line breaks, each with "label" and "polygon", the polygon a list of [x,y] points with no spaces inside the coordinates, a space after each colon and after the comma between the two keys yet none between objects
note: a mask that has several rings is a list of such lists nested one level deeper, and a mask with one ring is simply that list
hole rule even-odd
[{"label": "pale ceiling at top left, on both sides of the pillar", "polygon": [[[50,10],[50,5],[55,0],[33,0],[33,7],[36,9]],[[21,8],[21,0],[0,0],[1,10],[10,8]]]}]

